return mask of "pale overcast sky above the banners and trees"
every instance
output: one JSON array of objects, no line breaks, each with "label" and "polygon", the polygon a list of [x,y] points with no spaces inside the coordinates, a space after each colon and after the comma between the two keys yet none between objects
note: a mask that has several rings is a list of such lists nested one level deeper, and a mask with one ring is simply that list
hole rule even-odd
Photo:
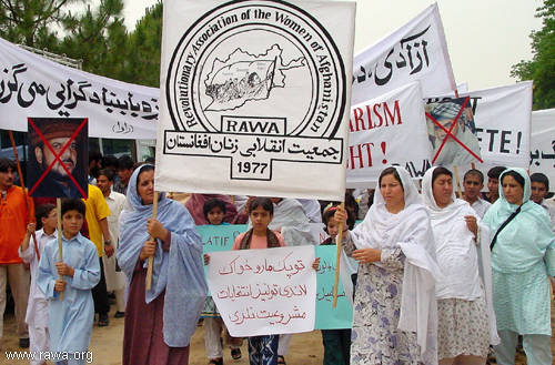
[{"label": "pale overcast sky above the banners and trees", "polygon": [[[202,1],[202,0],[188,0]],[[157,0],[124,0],[128,29]],[[292,0],[292,2],[295,2]],[[372,45],[433,3],[430,0],[356,0],[354,53]],[[512,84],[511,67],[532,59],[529,33],[541,0],[437,0],[456,82],[468,90]]]}]

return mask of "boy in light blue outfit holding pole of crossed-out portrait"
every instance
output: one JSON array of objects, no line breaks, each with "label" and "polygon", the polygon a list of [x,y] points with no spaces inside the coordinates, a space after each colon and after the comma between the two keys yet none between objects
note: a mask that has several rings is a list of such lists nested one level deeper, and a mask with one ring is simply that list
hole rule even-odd
[{"label": "boy in light blue outfit holding pole of crossed-out portrait", "polygon": [[100,281],[100,264],[94,244],[79,233],[84,203],[80,199],[64,199],[61,214],[62,232],[58,234],[62,234],[63,261],[58,240],[48,242],[37,285],[49,301],[50,351],[64,355],[57,364],[84,364],[94,322],[91,288]]}]

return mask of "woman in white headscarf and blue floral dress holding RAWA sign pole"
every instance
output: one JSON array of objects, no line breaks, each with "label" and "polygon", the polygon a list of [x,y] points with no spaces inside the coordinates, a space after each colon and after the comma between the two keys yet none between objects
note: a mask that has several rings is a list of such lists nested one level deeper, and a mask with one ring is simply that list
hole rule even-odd
[{"label": "woman in white headscarf and blue floral dress holding RAWA sign pole", "polygon": [[[334,217],[346,227],[344,209]],[[437,364],[440,273],[428,214],[404,169],[382,171],[374,204],[344,235],[359,261],[351,364]]]}]

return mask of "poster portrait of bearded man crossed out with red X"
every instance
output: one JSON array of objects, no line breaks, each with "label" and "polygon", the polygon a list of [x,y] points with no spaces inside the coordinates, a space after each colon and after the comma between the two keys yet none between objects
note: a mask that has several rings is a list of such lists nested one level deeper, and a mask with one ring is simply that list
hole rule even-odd
[{"label": "poster portrait of bearded man crossed out with red X", "polygon": [[[31,142],[30,164],[31,166],[36,164],[34,168],[30,169],[29,175],[29,187],[32,196],[82,197],[78,186],[70,178],[71,174],[77,182],[82,182],[83,185],[80,187],[85,191],[88,171],[84,164],[87,163],[87,155],[83,156],[84,152],[81,152],[84,145],[81,134],[78,134],[70,145],[64,149],[79,124],[77,122],[38,120],[36,125],[41,131],[48,145],[34,130],[29,132],[29,141]],[[61,153],[62,150],[63,153]],[[60,156],[63,166],[59,161],[54,162],[56,155]],[[84,161],[82,161],[83,159]],[[50,172],[33,190],[34,184],[52,163],[53,166]]]}]

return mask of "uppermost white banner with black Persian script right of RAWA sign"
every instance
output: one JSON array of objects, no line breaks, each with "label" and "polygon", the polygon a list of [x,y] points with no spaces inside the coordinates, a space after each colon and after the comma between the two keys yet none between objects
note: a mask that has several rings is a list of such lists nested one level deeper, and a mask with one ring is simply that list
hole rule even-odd
[{"label": "uppermost white banner with black Persian script right of RAWA sign", "polygon": [[421,81],[424,97],[456,88],[437,3],[354,57],[352,104],[411,81]]}]

